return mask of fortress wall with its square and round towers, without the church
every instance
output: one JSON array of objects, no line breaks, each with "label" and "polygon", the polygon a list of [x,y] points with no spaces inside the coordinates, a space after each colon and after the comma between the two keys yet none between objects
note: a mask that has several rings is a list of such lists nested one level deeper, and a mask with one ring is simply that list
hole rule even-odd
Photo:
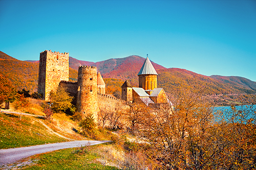
[{"label": "fortress wall with its square and round towers, without the church", "polygon": [[[99,77],[99,78],[98,78]],[[44,95],[46,101],[51,90],[58,86],[64,87],[74,96],[73,104],[77,111],[84,115],[92,113],[97,115],[99,105],[108,104],[116,106],[126,101],[115,98],[105,93],[105,83],[95,66],[80,66],[78,68],[77,82],[69,80],[69,53],[52,52],[51,50],[40,53],[38,93]]]}]

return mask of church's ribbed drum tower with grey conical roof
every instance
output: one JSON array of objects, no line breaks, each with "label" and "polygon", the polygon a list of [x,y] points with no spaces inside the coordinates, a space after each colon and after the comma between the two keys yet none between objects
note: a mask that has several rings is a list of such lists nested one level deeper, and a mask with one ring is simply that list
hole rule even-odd
[{"label": "church's ribbed drum tower with grey conical roof", "polygon": [[144,90],[154,90],[157,88],[157,75],[157,71],[147,57],[138,74],[139,87]]}]

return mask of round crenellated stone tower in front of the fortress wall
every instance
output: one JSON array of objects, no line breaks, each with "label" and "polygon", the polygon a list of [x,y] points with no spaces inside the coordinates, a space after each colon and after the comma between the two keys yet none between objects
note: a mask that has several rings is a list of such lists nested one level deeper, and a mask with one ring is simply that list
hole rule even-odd
[{"label": "round crenellated stone tower in front of the fortress wall", "polygon": [[78,68],[77,111],[96,116],[98,112],[97,67],[80,66]]}]

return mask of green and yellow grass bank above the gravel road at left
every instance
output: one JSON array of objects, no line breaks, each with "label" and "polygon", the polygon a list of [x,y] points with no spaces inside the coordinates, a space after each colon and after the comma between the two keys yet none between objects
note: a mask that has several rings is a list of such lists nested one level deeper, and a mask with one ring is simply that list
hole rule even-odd
[{"label": "green and yellow grass bank above the gravel road at left", "polygon": [[[41,119],[41,121],[44,121]],[[0,149],[68,141],[47,131],[37,118],[18,114],[0,114]]]}]

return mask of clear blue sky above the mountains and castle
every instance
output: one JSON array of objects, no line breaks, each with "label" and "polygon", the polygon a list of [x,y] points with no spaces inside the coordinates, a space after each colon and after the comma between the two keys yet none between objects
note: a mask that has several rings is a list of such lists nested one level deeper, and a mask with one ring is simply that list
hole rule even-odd
[{"label": "clear blue sky above the mountains and castle", "polygon": [[256,1],[0,0],[0,51],[84,61],[131,55],[198,74],[256,82]]}]

